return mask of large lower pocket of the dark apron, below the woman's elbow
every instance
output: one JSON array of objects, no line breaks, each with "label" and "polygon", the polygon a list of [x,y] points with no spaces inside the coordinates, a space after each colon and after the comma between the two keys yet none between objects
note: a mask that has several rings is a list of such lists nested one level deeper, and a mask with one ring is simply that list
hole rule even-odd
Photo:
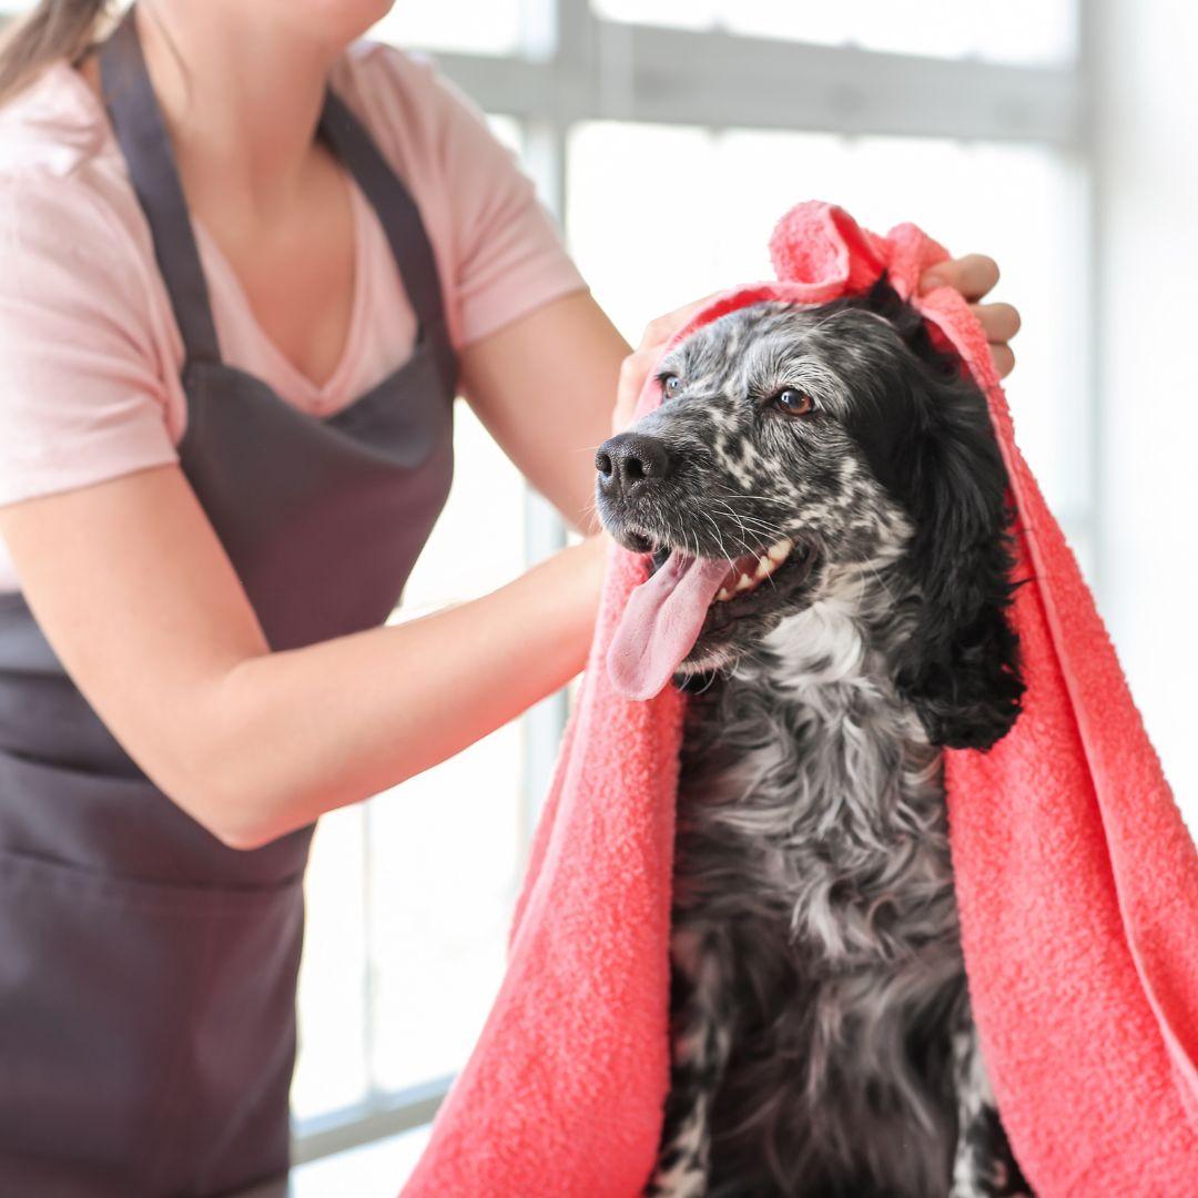
[{"label": "large lower pocket of the dark apron, below the woman's elbow", "polygon": [[5,1190],[204,1194],[285,1170],[302,934],[298,878],[175,887],[0,851]]}]

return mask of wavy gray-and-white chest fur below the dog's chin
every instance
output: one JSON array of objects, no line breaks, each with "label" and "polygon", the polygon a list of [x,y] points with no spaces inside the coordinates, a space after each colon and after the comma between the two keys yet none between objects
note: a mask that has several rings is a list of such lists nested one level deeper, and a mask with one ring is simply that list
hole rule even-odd
[{"label": "wavy gray-and-white chest fur below the dog's chin", "polygon": [[926,1194],[949,1167],[964,975],[940,754],[889,682],[904,629],[873,598],[788,617],[688,709],[674,955],[721,972],[713,1155],[733,1185],[766,1169],[761,1192]]}]

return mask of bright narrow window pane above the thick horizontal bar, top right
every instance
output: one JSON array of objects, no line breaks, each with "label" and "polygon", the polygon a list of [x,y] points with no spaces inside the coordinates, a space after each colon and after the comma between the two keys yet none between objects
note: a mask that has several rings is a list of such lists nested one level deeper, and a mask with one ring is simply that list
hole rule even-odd
[{"label": "bright narrow window pane above the thick horizontal bar, top right", "polygon": [[1076,54],[1075,0],[593,0],[615,20],[939,58],[1063,62]]}]

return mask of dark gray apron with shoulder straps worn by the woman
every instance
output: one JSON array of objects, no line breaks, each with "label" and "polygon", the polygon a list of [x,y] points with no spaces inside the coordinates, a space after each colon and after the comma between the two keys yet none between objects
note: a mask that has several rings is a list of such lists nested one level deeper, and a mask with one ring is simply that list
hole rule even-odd
[{"label": "dark gray apron with shoulder straps worn by the woman", "polygon": [[[186,346],[181,465],[271,646],[382,623],[453,470],[455,361],[415,204],[329,93],[320,134],[379,213],[418,334],[347,409],[305,415],[220,361],[132,13],[101,69]],[[286,1169],[311,831],[222,845],[0,597],[0,1194],[217,1194]]]}]

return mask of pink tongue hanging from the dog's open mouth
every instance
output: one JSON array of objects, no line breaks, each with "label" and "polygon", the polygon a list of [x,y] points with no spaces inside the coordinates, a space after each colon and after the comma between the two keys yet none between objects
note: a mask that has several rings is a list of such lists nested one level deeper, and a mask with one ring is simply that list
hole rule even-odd
[{"label": "pink tongue hanging from the dog's open mouth", "polygon": [[732,568],[722,558],[673,550],[628,599],[607,648],[607,677],[629,698],[653,698],[698,639],[715,592]]}]

